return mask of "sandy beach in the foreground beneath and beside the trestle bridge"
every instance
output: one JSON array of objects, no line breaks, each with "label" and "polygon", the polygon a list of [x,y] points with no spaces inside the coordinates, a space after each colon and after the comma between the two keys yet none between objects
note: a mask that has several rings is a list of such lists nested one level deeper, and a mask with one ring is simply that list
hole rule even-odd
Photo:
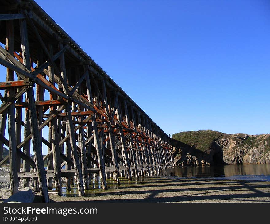
[{"label": "sandy beach in the foreground beneath and beside the trestle bridge", "polygon": [[[85,197],[64,188],[65,196],[49,193],[49,197],[52,202],[270,202],[269,181],[145,177],[131,183],[122,180],[122,183],[115,188],[115,183],[108,180],[107,191],[94,190],[92,185],[91,190],[85,191]],[[9,181],[0,181],[1,202],[9,197],[9,188]],[[40,201],[39,195],[36,192],[36,202]]]}]

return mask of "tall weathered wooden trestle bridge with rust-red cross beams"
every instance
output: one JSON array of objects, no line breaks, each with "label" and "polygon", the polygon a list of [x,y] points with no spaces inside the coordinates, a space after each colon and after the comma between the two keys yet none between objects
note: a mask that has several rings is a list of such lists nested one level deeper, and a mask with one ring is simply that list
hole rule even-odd
[{"label": "tall weathered wooden trestle bridge with rust-red cross beams", "polygon": [[83,196],[93,173],[107,189],[108,177],[119,184],[172,166],[170,138],[36,2],[0,0],[0,30],[0,167],[9,161],[11,194],[31,179],[49,202],[61,177]]}]

